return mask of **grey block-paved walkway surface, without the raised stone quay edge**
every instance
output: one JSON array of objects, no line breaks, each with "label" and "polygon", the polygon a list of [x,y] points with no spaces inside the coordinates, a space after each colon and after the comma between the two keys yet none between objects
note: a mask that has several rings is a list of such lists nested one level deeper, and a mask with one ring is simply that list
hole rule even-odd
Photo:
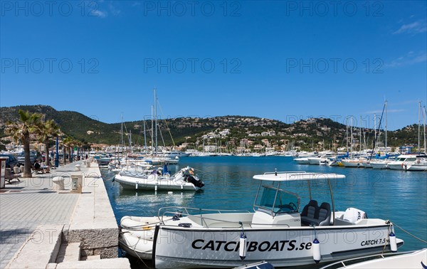
[{"label": "grey block-paved walkway surface, without the raised stone quay edge", "polygon": [[[71,189],[70,173],[75,162],[50,174],[36,174],[33,178],[6,183],[0,190],[0,268],[4,268],[28,236],[43,224],[68,224],[79,194],[53,191],[53,176],[65,178],[65,189]],[[43,231],[41,231],[43,236]]]}]

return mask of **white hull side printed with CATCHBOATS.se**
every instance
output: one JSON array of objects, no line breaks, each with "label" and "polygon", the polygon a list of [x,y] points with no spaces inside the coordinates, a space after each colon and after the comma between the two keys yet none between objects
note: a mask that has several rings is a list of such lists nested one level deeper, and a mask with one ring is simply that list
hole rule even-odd
[{"label": "white hull side printed with CATCHBOATS.se", "polygon": [[[317,227],[322,262],[381,253],[388,226]],[[241,265],[241,228],[184,228],[157,226],[154,236],[155,268],[235,267]],[[245,228],[246,263],[268,260],[275,267],[315,265],[314,230],[300,228]],[[374,240],[369,240],[376,238]],[[330,243],[333,241],[334,243]],[[329,242],[329,243],[328,243]],[[399,241],[399,245],[402,242]]]}]

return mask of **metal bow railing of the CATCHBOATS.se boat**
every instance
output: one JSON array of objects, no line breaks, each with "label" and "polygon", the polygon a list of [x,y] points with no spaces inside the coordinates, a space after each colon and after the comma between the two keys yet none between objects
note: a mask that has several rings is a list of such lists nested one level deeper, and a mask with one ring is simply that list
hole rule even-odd
[{"label": "metal bow railing of the CATCHBOATS.se boat", "polygon": [[[193,211],[194,213],[190,213]],[[164,218],[170,216],[193,216],[194,218],[200,218],[200,223],[202,226],[206,226],[209,228],[206,220],[218,221],[214,218],[206,218],[204,214],[208,213],[251,213],[251,211],[247,210],[233,210],[233,209],[197,209],[192,207],[183,207],[183,206],[167,206],[159,209],[157,213],[157,217],[160,222],[164,224]],[[221,222],[229,222],[229,223],[238,223],[238,221],[223,221]]]}]

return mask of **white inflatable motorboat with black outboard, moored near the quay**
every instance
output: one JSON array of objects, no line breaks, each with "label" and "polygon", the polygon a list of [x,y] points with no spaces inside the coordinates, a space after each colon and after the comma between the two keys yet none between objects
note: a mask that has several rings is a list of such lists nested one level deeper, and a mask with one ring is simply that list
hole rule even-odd
[{"label": "white inflatable motorboat with black outboard, moored near the quay", "polygon": [[114,180],[119,182],[125,189],[154,191],[196,191],[204,186],[204,182],[194,175],[194,169],[191,167],[185,167],[172,176],[166,171],[163,171],[163,174],[159,174],[156,170],[149,175],[120,172],[120,174],[115,175]]}]

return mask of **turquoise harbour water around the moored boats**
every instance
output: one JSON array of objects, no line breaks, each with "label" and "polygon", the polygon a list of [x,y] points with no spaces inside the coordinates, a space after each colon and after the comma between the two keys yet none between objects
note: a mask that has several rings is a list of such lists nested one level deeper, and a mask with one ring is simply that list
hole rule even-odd
[{"label": "turquoise harbour water around the moored boats", "polygon": [[[112,181],[114,174],[102,171],[117,223],[122,216],[154,216],[163,206],[189,206],[204,209],[252,210],[258,181],[255,174],[278,171],[337,173],[347,176],[334,186],[335,210],[355,207],[369,218],[389,219],[409,233],[427,241],[427,173],[363,168],[298,165],[291,157],[188,157],[181,167],[194,167],[205,182],[203,191],[167,192],[123,190]],[[319,194],[330,201],[329,192]],[[318,199],[321,201],[321,199]],[[304,204],[302,203],[302,206]],[[427,248],[427,244],[395,228],[405,241],[399,251]]]}]

